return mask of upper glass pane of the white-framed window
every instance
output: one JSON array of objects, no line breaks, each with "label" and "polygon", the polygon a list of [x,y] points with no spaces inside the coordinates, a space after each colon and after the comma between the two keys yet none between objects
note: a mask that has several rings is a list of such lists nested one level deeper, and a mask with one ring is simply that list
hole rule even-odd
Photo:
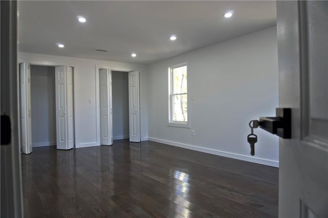
[{"label": "upper glass pane of the white-framed window", "polygon": [[173,94],[187,93],[187,66],[173,69]]}]

